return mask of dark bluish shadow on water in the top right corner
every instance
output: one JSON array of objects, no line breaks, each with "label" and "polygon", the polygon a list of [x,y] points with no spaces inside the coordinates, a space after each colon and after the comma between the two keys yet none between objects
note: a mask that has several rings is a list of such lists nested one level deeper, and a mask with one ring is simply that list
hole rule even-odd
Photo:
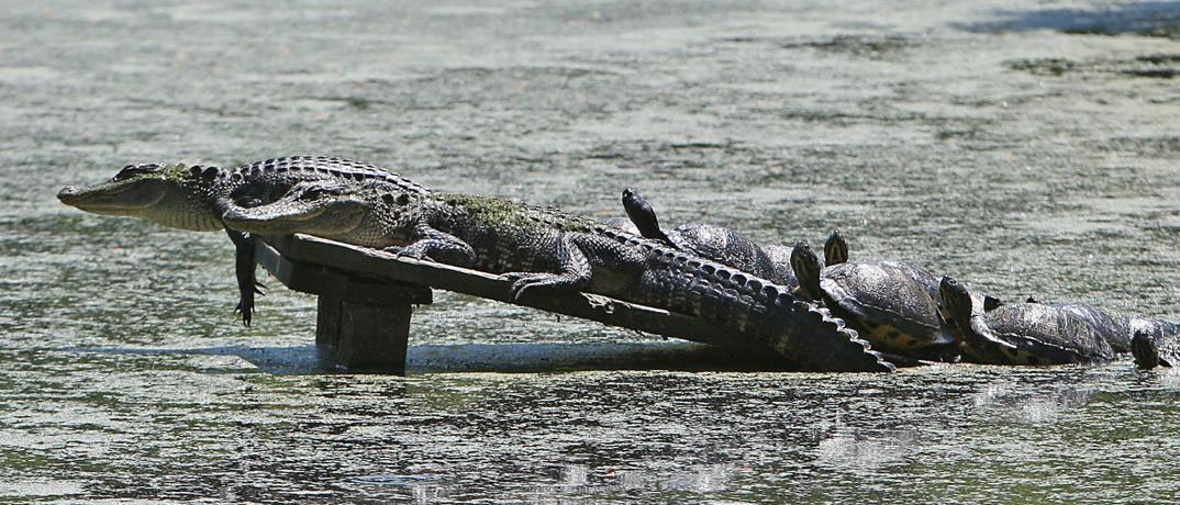
[{"label": "dark bluish shadow on water in the top right corner", "polygon": [[997,9],[999,18],[957,25],[969,32],[1031,32],[1053,29],[1063,33],[1180,38],[1180,2],[1146,1],[1095,8],[1045,8],[1037,11]]}]

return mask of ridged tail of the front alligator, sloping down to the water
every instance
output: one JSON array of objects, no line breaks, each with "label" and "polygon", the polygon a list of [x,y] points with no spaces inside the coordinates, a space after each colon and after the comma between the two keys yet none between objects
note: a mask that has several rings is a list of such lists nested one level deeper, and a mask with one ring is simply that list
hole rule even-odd
[{"label": "ridged tail of the front alligator, sloping down to the water", "polygon": [[603,229],[602,235],[645,251],[635,300],[730,326],[811,372],[893,372],[857,332],[787,288],[651,241]]}]

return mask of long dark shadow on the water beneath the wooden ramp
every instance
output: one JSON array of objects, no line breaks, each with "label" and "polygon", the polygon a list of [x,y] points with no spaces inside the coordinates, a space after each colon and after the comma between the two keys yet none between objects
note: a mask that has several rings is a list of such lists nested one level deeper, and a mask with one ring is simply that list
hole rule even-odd
[{"label": "long dark shadow on the water beneath the wooden ramp", "polygon": [[[315,346],[209,348],[77,347],[71,352],[140,355],[237,356],[275,375],[339,372],[398,373],[393,369],[348,370],[327,359]],[[634,343],[468,343],[411,346],[406,375],[432,373],[538,373],[578,370],[782,370],[781,361],[694,342]],[[232,373],[242,373],[234,369]]]}]

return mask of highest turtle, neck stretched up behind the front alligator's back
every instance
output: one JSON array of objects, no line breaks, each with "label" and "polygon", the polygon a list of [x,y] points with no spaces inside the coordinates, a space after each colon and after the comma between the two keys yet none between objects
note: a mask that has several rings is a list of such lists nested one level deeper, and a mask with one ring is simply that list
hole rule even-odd
[{"label": "highest turtle, neck stretched up behind the front alligator's back", "polygon": [[640,194],[628,188],[623,190],[623,209],[645,238],[661,241],[670,247],[690,252],[741,271],[766,278],[776,284],[794,288],[794,276],[787,263],[776,265],[771,256],[749,237],[734,230],[712,224],[684,224],[670,232],[660,229],[656,212]]}]

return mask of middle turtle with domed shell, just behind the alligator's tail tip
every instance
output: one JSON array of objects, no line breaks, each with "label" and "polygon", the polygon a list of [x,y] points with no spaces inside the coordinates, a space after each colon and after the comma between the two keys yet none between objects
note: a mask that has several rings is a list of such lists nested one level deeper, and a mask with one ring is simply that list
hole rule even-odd
[{"label": "middle turtle with domed shell, just behind the alligator's tail tip", "polygon": [[[846,249],[839,250],[840,238],[828,238],[825,256],[847,257]],[[791,265],[799,291],[821,301],[874,349],[922,360],[957,359],[958,341],[939,315],[938,304],[897,263],[844,261],[822,268],[811,247],[800,242],[792,250]]]}]

